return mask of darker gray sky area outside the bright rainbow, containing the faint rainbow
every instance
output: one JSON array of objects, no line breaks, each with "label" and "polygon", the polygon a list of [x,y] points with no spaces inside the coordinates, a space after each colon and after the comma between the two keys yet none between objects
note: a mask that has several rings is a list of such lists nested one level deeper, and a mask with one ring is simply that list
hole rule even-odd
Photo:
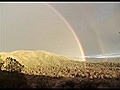
[{"label": "darker gray sky area outside the bright rainbow, containing the faint rainbow", "polygon": [[87,55],[120,52],[120,4],[51,4],[73,27]]}]

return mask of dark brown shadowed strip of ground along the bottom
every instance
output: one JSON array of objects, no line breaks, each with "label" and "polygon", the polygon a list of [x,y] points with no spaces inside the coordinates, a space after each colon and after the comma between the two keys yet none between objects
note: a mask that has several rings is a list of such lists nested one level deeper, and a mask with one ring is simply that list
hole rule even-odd
[{"label": "dark brown shadowed strip of ground along the bottom", "polygon": [[67,78],[0,71],[0,88],[120,88],[120,77]]}]

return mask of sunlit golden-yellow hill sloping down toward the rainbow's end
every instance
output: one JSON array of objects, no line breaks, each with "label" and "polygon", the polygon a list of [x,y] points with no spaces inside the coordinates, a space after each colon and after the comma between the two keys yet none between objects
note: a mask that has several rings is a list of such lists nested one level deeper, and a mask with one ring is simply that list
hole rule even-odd
[{"label": "sunlit golden-yellow hill sloping down toward the rainbow's end", "polygon": [[[17,50],[13,52],[1,52],[0,56],[2,60],[6,63],[8,63],[6,58],[10,59],[9,63],[19,62],[22,66],[25,67],[24,72],[26,71],[29,73],[32,73],[32,72],[40,73],[40,71],[42,72],[44,71],[48,73],[48,71],[51,70],[51,68],[59,69],[59,68],[64,68],[66,66],[74,67],[75,66],[74,64],[77,64],[79,62],[79,61],[74,61],[74,59],[71,59],[65,56],[60,56],[60,55],[43,51],[43,50],[36,50],[36,51]],[[75,63],[73,64],[73,62]],[[4,63],[4,65],[9,65],[6,63]],[[17,65],[17,67],[18,66],[19,65]],[[4,66],[4,67],[7,67],[7,66]]]}]

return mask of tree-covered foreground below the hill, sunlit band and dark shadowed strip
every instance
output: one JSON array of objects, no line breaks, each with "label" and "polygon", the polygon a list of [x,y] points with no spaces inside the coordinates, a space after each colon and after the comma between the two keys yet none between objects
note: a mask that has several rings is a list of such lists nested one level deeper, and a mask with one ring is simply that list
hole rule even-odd
[{"label": "tree-covered foreground below the hill, sunlit band and dark shadowed strip", "polygon": [[0,88],[120,88],[120,62],[82,62],[52,55],[39,63],[29,67],[13,57],[0,57]]}]

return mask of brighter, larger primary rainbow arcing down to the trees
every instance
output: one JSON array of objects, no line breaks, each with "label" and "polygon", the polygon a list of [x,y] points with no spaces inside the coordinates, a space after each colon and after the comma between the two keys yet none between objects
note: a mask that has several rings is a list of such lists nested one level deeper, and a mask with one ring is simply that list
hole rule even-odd
[{"label": "brighter, larger primary rainbow arcing down to the trees", "polygon": [[73,28],[70,26],[70,24],[67,22],[67,20],[55,9],[53,8],[50,4],[46,3],[46,5],[51,8],[64,22],[65,24],[68,26],[68,28],[71,30],[72,34],[74,35],[77,43],[78,43],[78,46],[79,46],[79,49],[80,49],[80,54],[81,54],[81,57],[82,57],[82,61],[86,61],[85,59],[85,53],[84,53],[84,49],[82,47],[82,44],[80,43],[80,40],[78,39],[75,31],[73,30]]}]

